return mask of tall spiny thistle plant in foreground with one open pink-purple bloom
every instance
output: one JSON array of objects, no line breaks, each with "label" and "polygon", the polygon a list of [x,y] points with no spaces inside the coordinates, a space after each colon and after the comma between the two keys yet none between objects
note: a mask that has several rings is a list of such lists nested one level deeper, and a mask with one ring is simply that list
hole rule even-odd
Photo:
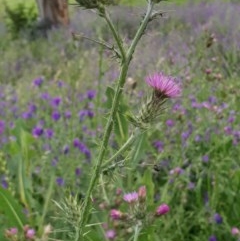
[{"label": "tall spiny thistle plant in foreground with one open pink-purple bloom", "polygon": [[[94,188],[98,184],[99,177],[102,171],[109,164],[111,164],[111,162],[115,160],[117,156],[119,156],[121,153],[126,151],[132,145],[132,143],[137,138],[137,136],[143,131],[142,129],[144,128],[142,127],[144,125],[151,124],[156,119],[156,117],[159,115],[159,113],[162,110],[163,103],[168,98],[176,97],[180,94],[180,88],[175,84],[174,80],[171,77],[166,77],[163,74],[156,74],[152,77],[149,77],[147,79],[147,83],[153,88],[153,95],[150,99],[150,102],[143,107],[143,110],[140,112],[140,115],[138,117],[136,118],[130,117],[130,119],[133,121],[133,124],[135,124],[136,129],[133,131],[133,134],[130,136],[128,141],[119,149],[119,151],[117,151],[117,153],[113,155],[113,157],[111,157],[109,160],[105,160],[105,154],[108,147],[109,138],[113,130],[116,114],[118,112],[120,97],[123,93],[122,90],[126,82],[128,69],[129,69],[131,60],[133,59],[134,51],[139,43],[139,40],[141,39],[141,37],[146,31],[148,23],[153,18],[156,18],[156,16],[161,16],[162,13],[153,12],[154,5],[159,3],[160,0],[147,1],[146,13],[129,46],[127,46],[123,42],[123,38],[117,32],[111,20],[111,17],[106,9],[107,5],[114,3],[113,1],[77,0],[77,2],[80,5],[80,7],[83,7],[86,9],[95,9],[99,14],[99,16],[105,19],[116,42],[116,47],[111,46],[110,44],[105,43],[104,41],[98,41],[98,40],[93,40],[93,41],[98,44],[101,44],[103,47],[107,48],[108,50],[111,50],[115,54],[115,56],[119,59],[119,63],[120,63],[120,73],[117,79],[116,88],[114,89],[112,107],[110,109],[107,124],[104,129],[104,135],[100,145],[99,154],[94,163],[90,184],[89,184],[85,199],[83,201],[83,204],[81,206],[82,208],[81,208],[81,212],[78,220],[78,230],[75,236],[75,240],[80,241],[80,240],[84,240],[84,229],[86,227],[87,220],[91,212],[92,193]],[[74,36],[76,37],[76,35]]]}]

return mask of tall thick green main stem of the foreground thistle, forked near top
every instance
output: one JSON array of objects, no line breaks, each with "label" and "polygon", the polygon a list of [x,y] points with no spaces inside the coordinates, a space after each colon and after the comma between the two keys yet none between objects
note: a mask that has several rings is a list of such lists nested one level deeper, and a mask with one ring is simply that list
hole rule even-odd
[{"label": "tall thick green main stem of the foreground thistle, forked near top", "polygon": [[119,47],[122,54],[123,54],[122,51],[124,51],[124,55],[122,56],[120,76],[119,76],[119,80],[117,82],[117,87],[116,87],[115,94],[114,94],[114,97],[113,97],[111,111],[110,111],[110,114],[109,114],[109,117],[108,117],[107,124],[105,126],[105,131],[104,131],[103,140],[102,140],[100,150],[99,150],[99,155],[98,155],[98,158],[96,160],[96,164],[94,165],[93,172],[92,172],[92,175],[91,175],[90,184],[89,184],[89,187],[88,187],[88,190],[87,190],[87,193],[86,193],[86,196],[85,196],[85,200],[84,200],[83,206],[82,206],[81,216],[80,216],[80,220],[79,220],[79,230],[78,230],[79,233],[77,234],[77,237],[75,239],[75,240],[78,240],[78,241],[83,240],[83,229],[84,229],[85,224],[88,220],[89,210],[90,210],[90,207],[91,207],[91,195],[92,195],[93,189],[94,189],[94,187],[95,187],[95,185],[96,185],[96,183],[99,179],[102,162],[103,162],[103,159],[104,159],[104,156],[105,156],[105,153],[106,153],[109,137],[110,137],[110,134],[112,132],[113,123],[114,123],[116,113],[117,113],[117,110],[118,110],[120,96],[121,96],[121,93],[122,93],[122,90],[123,90],[123,86],[126,82],[129,64],[131,62],[132,55],[134,53],[134,49],[135,49],[138,41],[140,40],[144,30],[146,29],[147,23],[148,23],[149,18],[151,16],[152,8],[153,8],[153,4],[151,2],[148,3],[147,13],[146,13],[141,25],[140,25],[139,30],[136,33],[136,36],[133,39],[133,42],[132,42],[130,48],[129,48],[127,59],[124,58],[125,51],[124,51],[123,46],[122,46],[122,40],[120,40],[115,28],[113,27],[112,22],[110,21],[110,18],[108,16],[108,14],[107,13],[104,14],[104,17],[105,17],[113,35],[114,35],[114,38],[116,39],[118,47]]}]

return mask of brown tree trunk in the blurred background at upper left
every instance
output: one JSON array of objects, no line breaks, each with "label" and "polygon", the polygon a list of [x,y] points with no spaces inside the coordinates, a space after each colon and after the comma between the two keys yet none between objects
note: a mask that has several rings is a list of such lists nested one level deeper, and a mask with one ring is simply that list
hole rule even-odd
[{"label": "brown tree trunk in the blurred background at upper left", "polygon": [[69,24],[67,0],[36,0],[39,26],[51,28]]}]

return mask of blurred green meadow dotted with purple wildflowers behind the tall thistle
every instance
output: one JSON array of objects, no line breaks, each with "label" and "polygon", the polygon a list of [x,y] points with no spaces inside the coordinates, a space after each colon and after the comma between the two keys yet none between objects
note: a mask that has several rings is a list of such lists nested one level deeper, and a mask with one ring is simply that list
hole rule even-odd
[{"label": "blurred green meadow dotted with purple wildflowers behind the tall thistle", "polygon": [[[145,5],[109,7],[124,48]],[[68,29],[14,39],[0,12],[0,240],[83,240],[82,219],[88,241],[240,240],[240,3],[155,6],[105,144],[122,52],[103,18],[69,8]],[[181,96],[139,124],[160,72]]]}]

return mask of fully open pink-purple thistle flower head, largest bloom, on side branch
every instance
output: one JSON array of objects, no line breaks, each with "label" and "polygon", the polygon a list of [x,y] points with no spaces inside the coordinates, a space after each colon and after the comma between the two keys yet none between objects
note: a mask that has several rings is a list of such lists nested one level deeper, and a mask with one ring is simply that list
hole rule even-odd
[{"label": "fully open pink-purple thistle flower head, largest bloom, on side branch", "polygon": [[160,99],[175,98],[181,95],[181,88],[176,84],[175,79],[163,73],[155,73],[146,78],[146,82]]}]

